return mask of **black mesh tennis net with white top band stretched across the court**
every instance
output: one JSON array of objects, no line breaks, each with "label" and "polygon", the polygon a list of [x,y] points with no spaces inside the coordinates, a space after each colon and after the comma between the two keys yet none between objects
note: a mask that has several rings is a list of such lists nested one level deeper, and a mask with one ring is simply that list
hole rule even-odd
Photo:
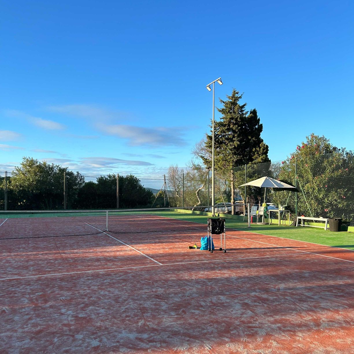
[{"label": "black mesh tennis net with white top band stretched across the court", "polygon": [[[248,226],[247,217],[229,215],[228,210],[224,209],[219,208],[215,212],[226,219],[227,228]],[[207,218],[211,216],[212,213],[208,207],[99,211],[6,211],[0,212],[0,239],[94,235],[102,232],[119,234],[206,230]]]}]

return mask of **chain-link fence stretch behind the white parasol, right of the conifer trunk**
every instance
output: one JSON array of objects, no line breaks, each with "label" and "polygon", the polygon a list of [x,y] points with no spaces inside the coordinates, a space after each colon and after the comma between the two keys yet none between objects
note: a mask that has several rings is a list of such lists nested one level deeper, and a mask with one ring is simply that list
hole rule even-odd
[{"label": "chain-link fence stretch behind the white parasol, right of the conifer trunk", "polygon": [[[242,172],[242,168],[240,168]],[[243,167],[244,181],[268,176],[290,184],[295,189],[247,186],[240,187],[242,198],[261,205],[264,198],[276,207],[283,206],[292,215],[342,218],[354,226],[354,164],[352,159],[337,153],[307,156],[306,159],[288,158],[283,161],[249,164]],[[237,182],[241,182],[242,176]],[[237,173],[236,173],[237,176]],[[244,182],[243,182],[244,183]],[[241,184],[241,183],[240,183]]]}]

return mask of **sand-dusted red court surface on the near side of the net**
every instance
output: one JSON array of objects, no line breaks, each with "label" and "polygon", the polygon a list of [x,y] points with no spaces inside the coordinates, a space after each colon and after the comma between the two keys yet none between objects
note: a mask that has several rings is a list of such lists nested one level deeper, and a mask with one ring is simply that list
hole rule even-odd
[{"label": "sand-dusted red court surface on the near side of the net", "polygon": [[108,234],[0,240],[0,353],[354,353],[353,251]]}]

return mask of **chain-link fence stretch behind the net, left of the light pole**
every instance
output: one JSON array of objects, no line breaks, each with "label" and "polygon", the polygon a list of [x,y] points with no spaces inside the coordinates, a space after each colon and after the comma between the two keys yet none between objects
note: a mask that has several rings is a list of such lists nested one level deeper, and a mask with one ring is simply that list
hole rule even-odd
[{"label": "chain-link fence stretch behind the net, left of the light pole", "polygon": [[81,175],[72,171],[0,171],[0,210],[210,205],[208,190],[211,200],[211,177],[208,179],[206,170],[198,173],[181,172],[180,177],[179,181],[168,175],[119,176]]}]

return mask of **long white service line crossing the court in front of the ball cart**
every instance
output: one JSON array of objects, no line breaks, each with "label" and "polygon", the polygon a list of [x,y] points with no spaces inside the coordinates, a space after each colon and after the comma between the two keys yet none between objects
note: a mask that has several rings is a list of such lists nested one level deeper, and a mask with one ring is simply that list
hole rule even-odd
[{"label": "long white service line crossing the court in front of the ball cart", "polygon": [[[109,235],[108,235],[109,236]],[[166,263],[166,264],[151,264],[151,265],[136,265],[133,267],[122,267],[122,268],[109,268],[109,269],[95,269],[95,270],[82,270],[79,272],[67,272],[67,273],[50,273],[50,274],[40,274],[40,275],[25,275],[25,276],[13,276],[11,278],[0,278],[1,280],[11,280],[11,279],[25,279],[25,278],[40,278],[43,276],[53,276],[53,275],[67,275],[67,274],[79,274],[79,273],[94,273],[94,272],[108,272],[110,270],[121,270],[121,269],[135,269],[135,268],[148,268],[148,267],[159,267],[165,265],[177,265],[177,264],[190,264],[190,263],[205,263],[205,262],[226,262],[235,261],[242,259],[254,259],[254,258],[270,258],[270,257],[283,257],[283,256],[296,256],[303,255],[303,253],[289,253],[286,255],[275,255],[275,256],[257,256],[257,257],[239,257],[239,258],[227,258],[227,259],[210,259],[208,261],[192,261],[192,262],[177,262],[177,263]]]}]

